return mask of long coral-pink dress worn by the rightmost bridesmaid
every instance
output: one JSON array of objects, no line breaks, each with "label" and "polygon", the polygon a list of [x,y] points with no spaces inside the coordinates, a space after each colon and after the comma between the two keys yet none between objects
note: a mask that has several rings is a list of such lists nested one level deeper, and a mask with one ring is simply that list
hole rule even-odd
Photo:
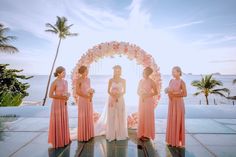
[{"label": "long coral-pink dress worn by the rightmost bridesmaid", "polygon": [[[182,80],[172,79],[169,89],[174,92],[181,92]],[[183,97],[173,97],[169,99],[166,143],[171,146],[185,145],[185,108]]]}]

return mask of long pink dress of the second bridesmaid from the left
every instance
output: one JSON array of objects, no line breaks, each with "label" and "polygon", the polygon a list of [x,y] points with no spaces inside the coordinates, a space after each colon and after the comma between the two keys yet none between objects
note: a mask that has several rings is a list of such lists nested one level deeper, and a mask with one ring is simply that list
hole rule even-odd
[{"label": "long pink dress of the second bridesmaid from the left", "polygon": [[[81,92],[87,94],[90,89],[90,79],[82,80]],[[94,137],[93,103],[89,99],[79,97],[78,100],[78,141],[89,141]]]}]

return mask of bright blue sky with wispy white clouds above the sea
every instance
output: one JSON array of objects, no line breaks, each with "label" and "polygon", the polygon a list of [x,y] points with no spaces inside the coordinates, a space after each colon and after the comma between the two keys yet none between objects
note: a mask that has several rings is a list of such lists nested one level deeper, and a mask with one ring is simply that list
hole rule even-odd
[{"label": "bright blue sky with wispy white clouds above the sea", "polygon": [[[79,36],[62,41],[56,66],[70,73],[83,53],[109,41],[134,43],[150,53],[162,74],[179,65],[185,73],[236,74],[235,0],[0,0],[0,23],[17,36],[17,54],[0,53],[0,63],[25,74],[48,74],[58,38],[45,32],[65,16]],[[139,71],[125,57],[91,65],[92,74],[109,74],[121,64]]]}]

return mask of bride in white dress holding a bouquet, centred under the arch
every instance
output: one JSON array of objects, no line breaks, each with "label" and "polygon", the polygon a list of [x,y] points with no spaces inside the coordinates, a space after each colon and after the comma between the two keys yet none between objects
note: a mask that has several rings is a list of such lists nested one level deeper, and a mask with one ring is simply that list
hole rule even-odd
[{"label": "bride in white dress holding a bouquet, centred under the arch", "polygon": [[113,67],[113,78],[108,85],[108,109],[106,124],[106,139],[125,140],[128,137],[127,117],[125,109],[124,94],[126,92],[125,80],[121,78],[121,67]]}]

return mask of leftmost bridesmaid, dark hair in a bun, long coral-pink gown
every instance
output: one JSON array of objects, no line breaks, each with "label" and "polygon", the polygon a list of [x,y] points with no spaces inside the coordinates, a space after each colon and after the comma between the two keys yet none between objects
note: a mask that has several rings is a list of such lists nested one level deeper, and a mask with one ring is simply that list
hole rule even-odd
[{"label": "leftmost bridesmaid, dark hair in a bun, long coral-pink gown", "polygon": [[67,81],[64,80],[66,76],[65,68],[62,66],[57,67],[54,76],[57,78],[53,81],[49,92],[49,97],[53,100],[48,143],[52,144],[53,148],[59,148],[71,142],[67,112],[67,100],[70,95],[68,93]]}]

